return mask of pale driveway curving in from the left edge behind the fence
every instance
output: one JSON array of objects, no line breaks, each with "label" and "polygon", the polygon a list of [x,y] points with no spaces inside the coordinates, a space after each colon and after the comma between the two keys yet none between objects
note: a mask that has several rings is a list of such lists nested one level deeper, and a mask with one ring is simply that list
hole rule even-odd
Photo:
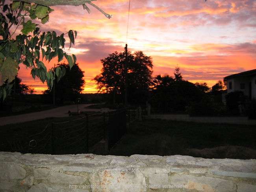
[{"label": "pale driveway curving in from the left edge behind the fence", "polygon": [[[102,111],[101,109],[86,109],[91,104],[79,104],[78,109],[82,112],[85,111]],[[68,111],[76,112],[77,105],[66,105],[63,107],[57,107],[54,109],[49,109],[46,111],[39,111],[34,113],[26,113],[20,115],[13,115],[13,116],[6,116],[0,118],[0,126],[7,125],[7,124],[16,124],[22,123],[27,121],[33,121],[38,119],[44,119],[48,117],[66,117],[69,116]]]}]

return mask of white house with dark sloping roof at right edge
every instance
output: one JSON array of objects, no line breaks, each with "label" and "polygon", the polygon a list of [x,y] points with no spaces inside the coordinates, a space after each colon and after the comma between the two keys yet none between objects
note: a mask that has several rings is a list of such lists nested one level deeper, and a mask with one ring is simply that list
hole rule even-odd
[{"label": "white house with dark sloping roof at right edge", "polygon": [[227,82],[228,93],[243,91],[249,99],[256,99],[256,69],[224,77]]}]

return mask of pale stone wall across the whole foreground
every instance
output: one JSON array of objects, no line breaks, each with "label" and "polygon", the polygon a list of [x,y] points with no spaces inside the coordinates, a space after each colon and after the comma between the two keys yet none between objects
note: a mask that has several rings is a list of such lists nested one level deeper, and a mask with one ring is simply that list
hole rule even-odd
[{"label": "pale stone wall across the whole foreground", "polygon": [[0,152],[1,192],[255,192],[256,160]]}]

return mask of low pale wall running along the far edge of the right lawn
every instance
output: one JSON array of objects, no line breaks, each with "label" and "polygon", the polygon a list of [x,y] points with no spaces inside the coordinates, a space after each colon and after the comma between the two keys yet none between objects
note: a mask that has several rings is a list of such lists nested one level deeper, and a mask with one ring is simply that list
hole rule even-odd
[{"label": "low pale wall running along the far edge of the right lawn", "polygon": [[150,114],[150,118],[198,122],[198,123],[256,125],[256,120],[249,120],[248,117],[233,117],[233,116],[214,117],[214,116],[189,116],[188,114]]}]

